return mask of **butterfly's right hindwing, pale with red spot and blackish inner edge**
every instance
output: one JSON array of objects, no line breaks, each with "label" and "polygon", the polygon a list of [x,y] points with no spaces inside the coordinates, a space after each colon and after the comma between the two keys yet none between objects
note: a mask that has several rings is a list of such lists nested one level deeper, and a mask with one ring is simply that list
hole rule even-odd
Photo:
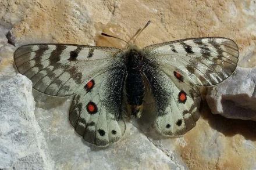
[{"label": "butterfly's right hindwing, pale with red spot and blackish inner edge", "polygon": [[179,136],[193,128],[200,117],[199,101],[194,102],[199,95],[197,87],[178,82],[154,67],[147,66],[144,73],[157,105],[157,130],[165,136]]}]

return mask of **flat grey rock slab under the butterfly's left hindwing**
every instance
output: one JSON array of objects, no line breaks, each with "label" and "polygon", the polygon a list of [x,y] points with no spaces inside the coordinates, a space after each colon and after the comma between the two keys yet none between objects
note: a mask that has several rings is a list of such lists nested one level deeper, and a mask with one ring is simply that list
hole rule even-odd
[{"label": "flat grey rock slab under the butterfly's left hindwing", "polygon": [[37,91],[34,96],[35,117],[44,133],[54,169],[186,169],[183,161],[175,159],[175,153],[159,149],[129,122],[119,142],[106,148],[88,144],[69,122],[70,97],[52,97]]}]

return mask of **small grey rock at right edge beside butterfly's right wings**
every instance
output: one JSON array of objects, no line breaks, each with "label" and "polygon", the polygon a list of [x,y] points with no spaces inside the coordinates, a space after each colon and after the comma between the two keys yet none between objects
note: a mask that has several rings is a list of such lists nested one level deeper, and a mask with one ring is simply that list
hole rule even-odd
[{"label": "small grey rock at right edge beside butterfly's right wings", "polygon": [[206,99],[213,114],[256,120],[256,67],[237,67],[232,77],[208,89]]}]

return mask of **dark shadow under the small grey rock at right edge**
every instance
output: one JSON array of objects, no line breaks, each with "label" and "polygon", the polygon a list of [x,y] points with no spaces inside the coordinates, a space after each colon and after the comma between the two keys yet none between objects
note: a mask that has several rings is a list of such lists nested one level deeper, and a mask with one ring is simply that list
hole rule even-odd
[{"label": "dark shadow under the small grey rock at right edge", "polygon": [[[223,104],[223,111],[230,111],[230,107],[236,110],[234,103],[226,100],[221,101]],[[226,104],[226,105],[225,105]],[[230,105],[231,104],[231,105]],[[237,111],[237,110],[236,110]],[[240,110],[249,111],[249,110]],[[251,110],[250,110],[251,111]],[[243,112],[241,112],[243,113]],[[245,113],[246,114],[246,113]],[[232,137],[234,135],[242,135],[247,140],[256,140],[256,121],[251,120],[237,120],[223,117],[222,115],[212,114],[207,103],[204,101],[201,109],[201,117],[207,120],[211,128],[221,132],[225,136]]]}]

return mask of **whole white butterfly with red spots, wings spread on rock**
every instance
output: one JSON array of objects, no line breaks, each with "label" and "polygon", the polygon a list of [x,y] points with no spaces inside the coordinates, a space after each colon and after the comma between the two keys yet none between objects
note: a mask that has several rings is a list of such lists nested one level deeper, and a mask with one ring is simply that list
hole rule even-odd
[{"label": "whole white butterfly with red spots, wings spread on rock", "polygon": [[37,91],[73,96],[69,120],[88,143],[108,146],[124,135],[123,106],[141,117],[146,82],[154,96],[157,131],[183,135],[200,117],[194,99],[198,86],[216,85],[232,75],[239,49],[232,39],[221,37],[180,39],[140,49],[130,42],[144,28],[130,41],[121,39],[127,43],[125,50],[29,44],[16,49],[14,62]]}]

